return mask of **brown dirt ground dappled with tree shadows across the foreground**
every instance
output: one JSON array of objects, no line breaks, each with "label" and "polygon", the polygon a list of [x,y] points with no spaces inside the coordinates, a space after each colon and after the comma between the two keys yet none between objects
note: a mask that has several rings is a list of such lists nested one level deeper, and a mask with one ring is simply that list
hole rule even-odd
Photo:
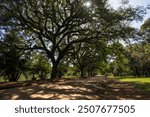
[{"label": "brown dirt ground dappled with tree shadows across the foreground", "polygon": [[0,83],[0,99],[150,99],[150,92],[104,77]]}]

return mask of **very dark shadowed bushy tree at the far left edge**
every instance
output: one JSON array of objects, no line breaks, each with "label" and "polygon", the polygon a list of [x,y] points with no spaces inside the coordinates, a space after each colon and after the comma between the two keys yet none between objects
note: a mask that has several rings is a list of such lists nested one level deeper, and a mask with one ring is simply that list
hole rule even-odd
[{"label": "very dark shadowed bushy tree at the far left edge", "polygon": [[14,47],[22,44],[21,38],[13,31],[6,34],[0,43],[0,75],[5,80],[17,81],[25,68],[24,52]]}]

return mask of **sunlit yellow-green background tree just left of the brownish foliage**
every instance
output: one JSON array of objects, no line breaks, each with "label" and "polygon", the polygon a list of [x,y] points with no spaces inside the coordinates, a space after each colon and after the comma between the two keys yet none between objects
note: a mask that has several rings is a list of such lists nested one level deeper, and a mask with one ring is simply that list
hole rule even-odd
[{"label": "sunlit yellow-green background tree just left of the brownish foliage", "polygon": [[129,60],[126,56],[126,48],[117,42],[109,45],[109,73],[116,76],[123,76],[129,73]]}]

